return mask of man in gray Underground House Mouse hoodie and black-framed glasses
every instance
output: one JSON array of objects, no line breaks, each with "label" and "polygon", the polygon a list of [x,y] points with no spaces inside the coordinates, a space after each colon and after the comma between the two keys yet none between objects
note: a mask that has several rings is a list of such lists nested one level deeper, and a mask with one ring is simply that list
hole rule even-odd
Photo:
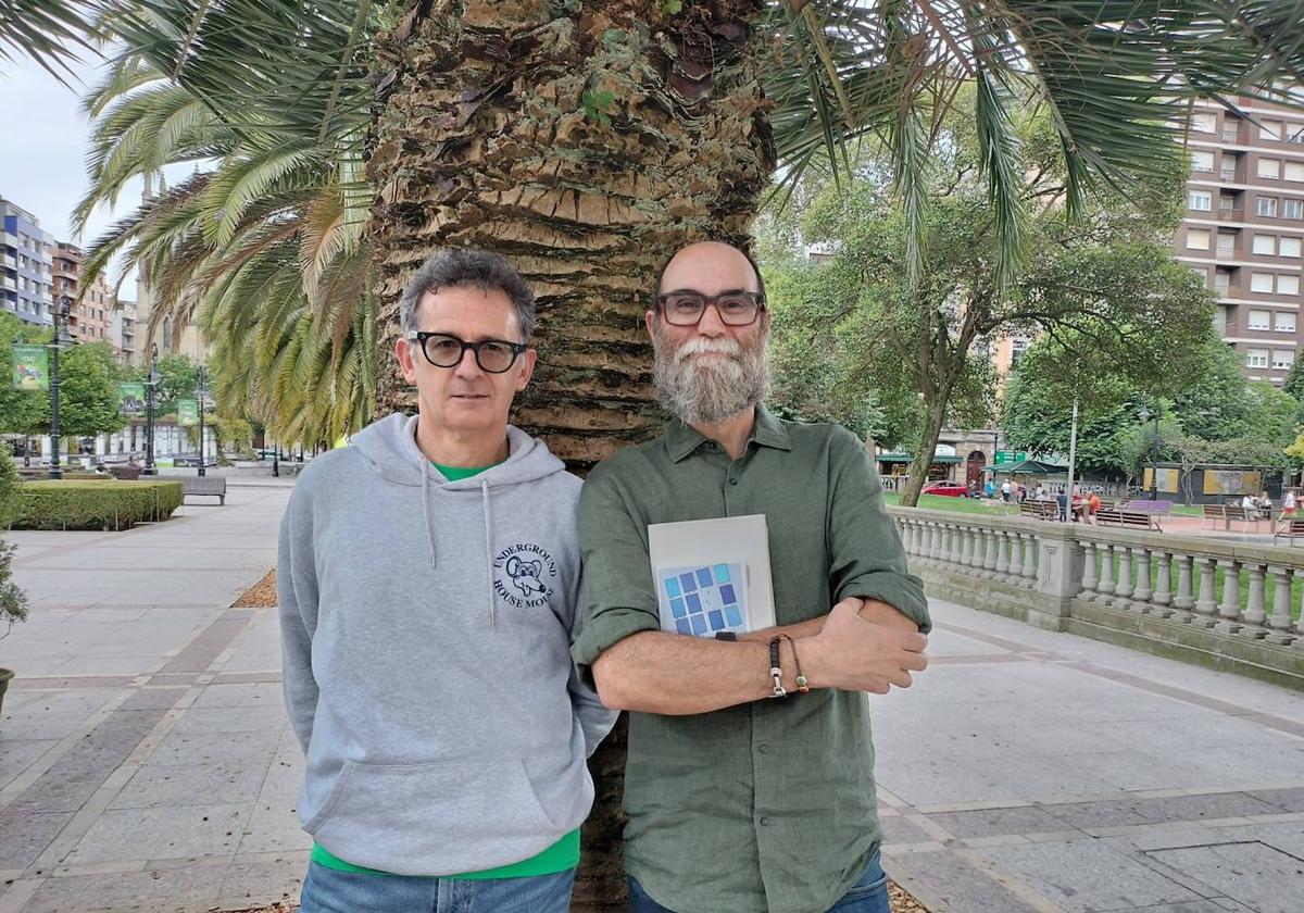
[{"label": "man in gray Underground House Mouse hoodie and black-framed glasses", "polygon": [[615,715],[570,660],[579,480],[507,424],[536,352],[501,257],[412,277],[417,415],[316,458],[280,530],[289,720],[314,840],[304,913],[563,913]]}]

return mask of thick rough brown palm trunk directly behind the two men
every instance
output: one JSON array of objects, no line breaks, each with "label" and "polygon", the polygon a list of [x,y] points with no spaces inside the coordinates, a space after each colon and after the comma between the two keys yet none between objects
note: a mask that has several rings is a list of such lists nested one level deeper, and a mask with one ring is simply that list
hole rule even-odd
[{"label": "thick rough brown palm trunk directly behind the two men", "polygon": [[[382,40],[368,163],[381,348],[437,248],[510,257],[540,312],[514,420],[582,472],[660,430],[642,326],[657,269],[690,240],[746,243],[775,166],[751,40],[763,4],[669,7],[428,0]],[[387,357],[378,415],[413,402]],[[591,762],[584,913],[625,905],[622,734]]]}]

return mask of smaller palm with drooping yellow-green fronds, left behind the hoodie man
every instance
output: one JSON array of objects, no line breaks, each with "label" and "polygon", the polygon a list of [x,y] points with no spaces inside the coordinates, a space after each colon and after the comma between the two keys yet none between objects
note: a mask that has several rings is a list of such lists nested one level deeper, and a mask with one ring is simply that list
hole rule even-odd
[{"label": "smaller palm with drooping yellow-green fronds, left behind the hoodie man", "polygon": [[85,108],[95,125],[82,224],[132,177],[207,166],[115,224],[87,252],[86,275],[125,250],[159,299],[147,338],[164,317],[196,317],[214,343],[218,402],[240,404],[278,441],[334,441],[365,424],[372,252],[363,218],[348,218],[338,163],[308,141],[232,129],[134,56],[115,61]]}]

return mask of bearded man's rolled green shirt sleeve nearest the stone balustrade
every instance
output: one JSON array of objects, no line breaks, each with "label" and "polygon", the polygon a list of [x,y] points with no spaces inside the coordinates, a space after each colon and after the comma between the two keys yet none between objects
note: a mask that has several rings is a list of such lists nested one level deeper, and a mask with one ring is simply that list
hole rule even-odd
[{"label": "bearded man's rolled green shirt sleeve nearest the stone balustrade", "polygon": [[880,600],[927,634],[932,621],[923,580],[906,570],[905,548],[870,454],[846,430],[835,434],[829,447],[828,543],[835,600]]}]

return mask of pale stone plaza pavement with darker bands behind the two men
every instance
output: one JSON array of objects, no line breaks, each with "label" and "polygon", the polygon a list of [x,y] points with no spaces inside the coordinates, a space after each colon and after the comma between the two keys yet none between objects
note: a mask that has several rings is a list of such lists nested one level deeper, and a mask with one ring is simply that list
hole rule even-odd
[{"label": "pale stone plaza pavement with darker bands behind the two men", "polygon": [[[12,533],[33,613],[0,642],[0,913],[297,893],[275,612],[227,608],[287,494]],[[1304,910],[1304,695],[932,608],[932,666],[874,724],[885,867],[934,913]]]}]

